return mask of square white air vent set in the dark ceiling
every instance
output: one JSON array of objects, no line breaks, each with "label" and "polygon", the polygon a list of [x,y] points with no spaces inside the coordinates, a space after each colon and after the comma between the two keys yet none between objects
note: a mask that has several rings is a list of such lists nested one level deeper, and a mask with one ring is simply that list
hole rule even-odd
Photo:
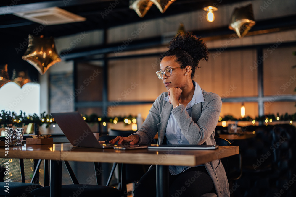
[{"label": "square white air vent set in the dark ceiling", "polygon": [[58,7],[14,13],[14,15],[46,25],[85,21],[86,18]]}]

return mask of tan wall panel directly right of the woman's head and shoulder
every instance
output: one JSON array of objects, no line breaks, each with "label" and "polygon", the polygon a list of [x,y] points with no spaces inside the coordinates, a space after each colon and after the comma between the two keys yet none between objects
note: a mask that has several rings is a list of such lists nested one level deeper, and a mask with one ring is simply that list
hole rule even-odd
[{"label": "tan wall panel directly right of the woman's head and shoulder", "polygon": [[255,49],[210,52],[209,57],[208,62],[200,61],[201,68],[195,71],[194,80],[202,89],[221,98],[258,95]]}]

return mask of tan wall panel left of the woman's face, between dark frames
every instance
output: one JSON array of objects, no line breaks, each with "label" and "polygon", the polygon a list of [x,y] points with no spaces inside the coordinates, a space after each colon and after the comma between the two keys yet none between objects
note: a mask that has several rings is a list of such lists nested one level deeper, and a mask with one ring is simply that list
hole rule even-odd
[{"label": "tan wall panel left of the woman's face, between dark frames", "polygon": [[[151,63],[155,57],[109,62],[109,100],[153,101],[166,89]],[[112,77],[116,76],[116,78]]]}]

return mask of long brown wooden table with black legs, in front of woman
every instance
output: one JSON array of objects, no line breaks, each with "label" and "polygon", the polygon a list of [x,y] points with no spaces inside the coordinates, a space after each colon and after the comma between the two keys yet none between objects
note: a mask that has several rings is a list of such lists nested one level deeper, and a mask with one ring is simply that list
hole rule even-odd
[{"label": "long brown wooden table with black legs, in front of woman", "polygon": [[44,144],[9,147],[8,157],[4,148],[0,148],[1,158],[49,159],[51,160],[50,196],[60,196],[61,162],[118,162],[128,164],[154,164],[157,170],[157,196],[168,196],[168,165],[197,166],[215,159],[229,157],[239,153],[238,146],[219,146],[216,150],[115,150],[74,147],[70,143]]}]

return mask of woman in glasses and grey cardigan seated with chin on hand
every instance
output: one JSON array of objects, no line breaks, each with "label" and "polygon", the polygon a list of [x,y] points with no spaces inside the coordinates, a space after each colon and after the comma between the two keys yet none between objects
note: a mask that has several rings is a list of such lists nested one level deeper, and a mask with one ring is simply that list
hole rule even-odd
[{"label": "woman in glasses and grey cardigan seated with chin on hand", "polygon": [[[188,32],[178,34],[168,48],[157,71],[168,91],[155,100],[135,134],[117,136],[110,143],[150,144],[158,132],[158,144],[216,144],[214,129],[221,111],[221,98],[202,90],[192,80],[199,61],[208,59],[205,42]],[[229,196],[227,177],[219,159],[196,167],[169,166],[169,171],[169,196],[200,196],[209,192],[218,197]],[[197,178],[192,182],[192,177]],[[155,167],[152,167],[139,180],[134,196],[156,196],[155,180]],[[178,191],[182,187],[180,195]]]}]

